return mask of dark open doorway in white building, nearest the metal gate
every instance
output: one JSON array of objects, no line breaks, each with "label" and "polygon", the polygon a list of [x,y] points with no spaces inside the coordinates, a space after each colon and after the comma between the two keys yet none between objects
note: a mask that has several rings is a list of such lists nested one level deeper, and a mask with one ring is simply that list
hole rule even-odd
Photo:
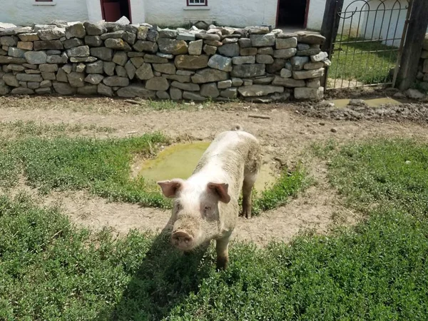
[{"label": "dark open doorway in white building, nearest the metal gate", "polygon": [[305,28],[307,0],[278,0],[278,27]]}]

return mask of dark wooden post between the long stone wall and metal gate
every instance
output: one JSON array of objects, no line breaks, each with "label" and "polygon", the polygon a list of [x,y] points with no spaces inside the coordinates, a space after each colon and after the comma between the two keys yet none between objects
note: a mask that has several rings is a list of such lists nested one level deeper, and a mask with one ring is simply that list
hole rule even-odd
[{"label": "dark wooden post between the long stone wall and metal gate", "polygon": [[[327,0],[325,2],[324,18],[322,19],[321,34],[325,36],[325,43],[322,44],[322,51],[327,51],[329,58],[332,55],[333,42],[339,29],[340,16],[338,12],[342,11],[344,0]],[[327,67],[328,68],[328,67]],[[325,75],[321,78],[321,86],[325,86],[327,81],[327,68]]]}]

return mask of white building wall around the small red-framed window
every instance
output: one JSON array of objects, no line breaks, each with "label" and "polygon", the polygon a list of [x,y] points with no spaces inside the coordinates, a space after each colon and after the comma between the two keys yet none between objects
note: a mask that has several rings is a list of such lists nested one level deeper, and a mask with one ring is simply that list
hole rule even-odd
[{"label": "white building wall around the small red-framed window", "polygon": [[146,0],[146,22],[183,26],[189,20],[215,21],[221,26],[275,26],[277,0],[208,0],[207,7],[188,7],[186,0]]}]

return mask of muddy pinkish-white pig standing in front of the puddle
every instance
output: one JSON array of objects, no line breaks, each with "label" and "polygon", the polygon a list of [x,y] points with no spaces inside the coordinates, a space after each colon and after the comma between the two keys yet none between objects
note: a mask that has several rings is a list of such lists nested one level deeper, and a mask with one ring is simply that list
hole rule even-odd
[{"label": "muddy pinkish-white pig standing in front of the puddle", "polygon": [[188,253],[215,240],[217,269],[224,270],[230,235],[238,220],[240,191],[242,215],[250,218],[261,162],[258,139],[238,125],[214,139],[187,180],[159,181],[163,195],[175,198],[169,223],[175,248]]}]

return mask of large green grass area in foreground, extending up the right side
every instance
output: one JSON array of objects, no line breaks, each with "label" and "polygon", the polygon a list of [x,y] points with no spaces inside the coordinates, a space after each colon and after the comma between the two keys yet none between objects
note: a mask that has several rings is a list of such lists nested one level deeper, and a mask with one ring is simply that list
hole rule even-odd
[{"label": "large green grass area in foreground, extending up the right side", "polygon": [[0,198],[0,319],[426,320],[428,146],[330,144],[319,155],[367,220],[290,245],[234,243],[225,272],[213,248],[182,256],[136,232],[113,241],[22,195]]}]

